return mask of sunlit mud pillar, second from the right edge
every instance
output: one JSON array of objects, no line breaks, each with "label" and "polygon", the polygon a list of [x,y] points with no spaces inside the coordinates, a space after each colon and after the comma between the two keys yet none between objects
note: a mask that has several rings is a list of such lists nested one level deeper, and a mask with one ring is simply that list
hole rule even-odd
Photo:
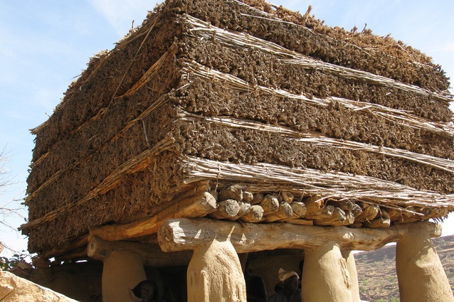
[{"label": "sunlit mud pillar, second from the right edge", "polygon": [[302,269],[302,300],[305,302],[352,302],[357,284],[349,271],[351,259],[342,257],[339,245],[328,242],[318,249],[305,250]]}]

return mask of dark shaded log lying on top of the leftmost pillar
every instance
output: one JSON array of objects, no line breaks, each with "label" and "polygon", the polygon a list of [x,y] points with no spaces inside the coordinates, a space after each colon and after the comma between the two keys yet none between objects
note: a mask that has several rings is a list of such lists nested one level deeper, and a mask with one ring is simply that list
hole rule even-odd
[{"label": "dark shaded log lying on top of the leftmost pillar", "polygon": [[90,258],[104,261],[112,252],[128,252],[142,257],[144,265],[154,267],[188,265],[192,251],[164,253],[158,244],[144,244],[128,241],[105,241],[98,237],[90,239],[87,255]]}]

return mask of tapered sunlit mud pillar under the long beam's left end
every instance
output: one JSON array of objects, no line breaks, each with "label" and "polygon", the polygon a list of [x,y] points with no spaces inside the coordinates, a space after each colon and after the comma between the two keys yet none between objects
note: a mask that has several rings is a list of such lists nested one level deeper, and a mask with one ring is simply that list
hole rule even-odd
[{"label": "tapered sunlit mud pillar under the long beam's left end", "polygon": [[188,302],[246,301],[246,282],[230,240],[194,250],[187,272]]}]

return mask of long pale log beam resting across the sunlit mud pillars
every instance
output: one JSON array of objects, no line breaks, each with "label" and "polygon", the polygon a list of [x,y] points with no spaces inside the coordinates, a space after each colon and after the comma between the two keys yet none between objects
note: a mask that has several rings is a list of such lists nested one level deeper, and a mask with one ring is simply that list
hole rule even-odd
[{"label": "long pale log beam resting across the sunlit mud pillars", "polygon": [[[441,235],[441,227],[433,222],[422,225],[431,237]],[[337,242],[341,249],[373,250],[389,242],[398,242],[413,223],[384,228],[315,227],[288,223],[251,224],[199,219],[171,219],[158,231],[159,246],[164,252],[198,249],[213,239],[230,239],[238,253],[272,249],[316,249],[327,242]]]}]

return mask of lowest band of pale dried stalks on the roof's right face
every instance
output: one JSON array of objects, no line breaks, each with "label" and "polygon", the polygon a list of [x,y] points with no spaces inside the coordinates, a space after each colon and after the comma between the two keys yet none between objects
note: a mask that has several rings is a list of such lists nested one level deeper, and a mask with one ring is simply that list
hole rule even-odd
[{"label": "lowest band of pale dried stalks on the roof's right face", "polygon": [[310,168],[289,168],[270,163],[221,163],[187,157],[191,173],[186,183],[210,179],[222,185],[244,183],[250,191],[291,190],[300,195],[322,195],[334,200],[358,200],[395,207],[448,207],[454,210],[454,195],[416,190],[406,185],[347,173],[327,173]]}]

